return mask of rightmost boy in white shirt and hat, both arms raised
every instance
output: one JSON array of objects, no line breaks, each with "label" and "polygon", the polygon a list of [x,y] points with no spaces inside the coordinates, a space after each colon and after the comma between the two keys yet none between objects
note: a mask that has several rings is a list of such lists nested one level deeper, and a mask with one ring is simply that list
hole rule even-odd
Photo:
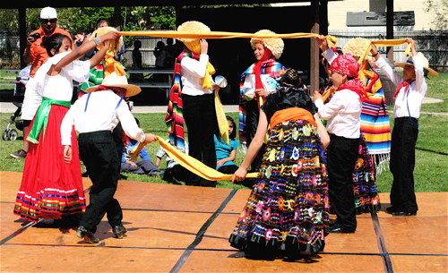
[{"label": "rightmost boy in white shirt and hat, both arms raised", "polygon": [[412,56],[406,63],[395,65],[403,68],[403,76],[392,70],[391,65],[378,55],[375,45],[371,53],[375,63],[386,76],[397,85],[395,91],[395,118],[392,130],[392,147],[390,169],[393,175],[391,205],[387,212],[393,216],[415,216],[418,205],[414,192],[414,166],[416,161],[415,147],[418,139],[418,117],[420,107],[425,98],[427,85],[425,76],[438,76],[428,67],[426,57],[417,53],[416,42],[408,38]]}]

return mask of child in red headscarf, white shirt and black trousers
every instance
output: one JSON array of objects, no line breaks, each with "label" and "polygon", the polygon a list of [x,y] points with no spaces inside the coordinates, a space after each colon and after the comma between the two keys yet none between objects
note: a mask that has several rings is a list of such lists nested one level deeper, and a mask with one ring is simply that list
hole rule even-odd
[{"label": "child in red headscarf, white shirt and black trousers", "polygon": [[359,64],[349,54],[339,55],[330,66],[336,91],[323,104],[322,95],[314,91],[318,114],[328,120],[330,145],[327,148],[329,196],[336,213],[330,233],[354,233],[357,229],[352,173],[358,159],[360,116],[365,90],[358,77]]}]

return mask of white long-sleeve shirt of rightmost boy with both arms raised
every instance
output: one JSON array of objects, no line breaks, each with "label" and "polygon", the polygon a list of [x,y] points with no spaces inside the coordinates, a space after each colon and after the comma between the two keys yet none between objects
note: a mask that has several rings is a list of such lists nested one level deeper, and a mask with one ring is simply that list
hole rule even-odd
[{"label": "white long-sleeve shirt of rightmost boy with both arms raised", "polygon": [[[395,106],[393,108],[393,116],[403,117],[411,116],[418,118],[420,116],[420,108],[423,98],[425,98],[427,84],[425,81],[425,74],[423,72],[423,63],[418,55],[412,56],[414,62],[414,69],[416,72],[416,81],[410,83],[408,91],[405,93],[405,88],[402,87],[395,98]],[[399,85],[403,82],[403,77],[400,74],[393,71],[391,65],[383,59],[382,56],[376,60],[376,65],[386,74],[386,76],[395,85]]]}]

